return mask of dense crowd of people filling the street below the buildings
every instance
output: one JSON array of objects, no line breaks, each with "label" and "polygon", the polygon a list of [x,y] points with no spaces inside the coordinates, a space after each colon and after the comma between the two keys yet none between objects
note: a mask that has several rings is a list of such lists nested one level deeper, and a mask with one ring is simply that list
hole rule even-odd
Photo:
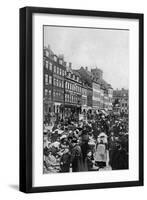
[{"label": "dense crowd of people filling the street below the buildings", "polygon": [[128,169],[128,116],[95,113],[92,119],[44,123],[44,173]]}]

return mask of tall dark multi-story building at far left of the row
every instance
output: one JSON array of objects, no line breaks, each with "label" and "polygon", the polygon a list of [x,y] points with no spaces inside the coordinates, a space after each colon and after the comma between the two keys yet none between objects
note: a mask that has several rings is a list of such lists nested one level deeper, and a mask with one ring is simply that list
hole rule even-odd
[{"label": "tall dark multi-story building at far left of the row", "polygon": [[64,108],[64,58],[55,55],[50,47],[44,48],[44,119],[63,117]]}]

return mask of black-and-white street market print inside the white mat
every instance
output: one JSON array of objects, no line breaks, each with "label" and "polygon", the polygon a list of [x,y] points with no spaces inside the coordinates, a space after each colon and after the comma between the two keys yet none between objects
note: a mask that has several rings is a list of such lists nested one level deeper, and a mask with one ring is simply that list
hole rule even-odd
[{"label": "black-and-white street market print inside the white mat", "polygon": [[129,36],[43,26],[43,174],[129,169]]}]

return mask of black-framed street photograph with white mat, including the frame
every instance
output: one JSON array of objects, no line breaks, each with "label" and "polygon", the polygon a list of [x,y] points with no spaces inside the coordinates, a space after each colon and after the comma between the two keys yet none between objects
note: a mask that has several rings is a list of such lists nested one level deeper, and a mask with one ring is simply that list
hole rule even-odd
[{"label": "black-framed street photograph with white mat, including the frame", "polygon": [[20,190],[143,185],[143,15],[20,17]]}]

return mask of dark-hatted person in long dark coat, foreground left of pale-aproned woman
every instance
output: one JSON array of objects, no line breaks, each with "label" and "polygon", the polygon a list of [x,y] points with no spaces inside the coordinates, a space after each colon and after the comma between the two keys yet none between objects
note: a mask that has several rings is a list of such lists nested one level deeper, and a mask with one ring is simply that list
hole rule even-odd
[{"label": "dark-hatted person in long dark coat, foreground left of pale-aproned woman", "polygon": [[73,137],[71,141],[72,149],[71,149],[71,165],[72,172],[81,171],[82,166],[82,151],[81,147],[77,143],[77,138]]}]

